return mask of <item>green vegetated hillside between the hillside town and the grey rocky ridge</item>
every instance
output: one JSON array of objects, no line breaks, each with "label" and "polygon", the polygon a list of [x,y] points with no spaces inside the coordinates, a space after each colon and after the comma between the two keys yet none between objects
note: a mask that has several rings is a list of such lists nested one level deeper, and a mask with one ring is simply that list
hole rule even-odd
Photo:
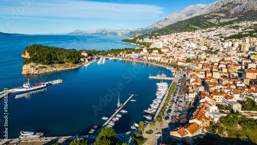
[{"label": "green vegetated hillside between the hillside town and the grey rocky ridge", "polygon": [[153,36],[157,37],[158,35],[167,35],[175,32],[189,32],[209,27],[225,26],[233,24],[234,22],[257,20],[257,11],[255,9],[235,12],[233,14],[228,13],[228,11],[229,8],[224,7],[214,13],[199,15],[188,20],[179,21],[161,29],[141,34],[135,38],[152,38]]}]

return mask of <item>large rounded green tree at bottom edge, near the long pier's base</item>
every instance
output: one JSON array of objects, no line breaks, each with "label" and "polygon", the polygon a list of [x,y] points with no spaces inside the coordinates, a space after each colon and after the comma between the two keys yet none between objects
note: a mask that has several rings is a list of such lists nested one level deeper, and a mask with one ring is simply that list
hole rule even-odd
[{"label": "large rounded green tree at bottom edge, near the long pier's base", "polygon": [[113,128],[105,128],[102,129],[102,131],[99,133],[95,144],[101,145],[101,144],[118,144],[118,139],[115,137],[115,131]]}]

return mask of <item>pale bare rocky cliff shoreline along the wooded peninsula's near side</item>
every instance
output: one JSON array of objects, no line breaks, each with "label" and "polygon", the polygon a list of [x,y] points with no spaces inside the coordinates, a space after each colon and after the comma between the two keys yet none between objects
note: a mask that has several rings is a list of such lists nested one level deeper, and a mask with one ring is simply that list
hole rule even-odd
[{"label": "pale bare rocky cliff shoreline along the wooded peninsula's near side", "polygon": [[77,69],[83,65],[84,63],[79,63],[76,65],[75,64],[42,65],[42,64],[36,64],[36,63],[29,63],[29,64],[23,65],[22,74],[38,75],[38,74],[44,74],[44,73],[49,73],[53,71]]}]

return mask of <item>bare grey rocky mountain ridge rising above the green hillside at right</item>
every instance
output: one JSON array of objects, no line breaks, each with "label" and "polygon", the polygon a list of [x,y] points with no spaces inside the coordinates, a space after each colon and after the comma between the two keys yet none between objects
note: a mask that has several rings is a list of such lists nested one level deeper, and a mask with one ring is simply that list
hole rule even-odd
[{"label": "bare grey rocky mountain ridge rising above the green hillside at right", "polygon": [[191,5],[189,7],[186,7],[179,13],[169,14],[166,17],[166,19],[162,19],[161,21],[155,22],[151,26],[148,26],[146,28],[134,29],[127,35],[134,35],[136,33],[145,33],[153,30],[157,30],[179,21],[188,20],[194,16],[218,11],[222,8],[226,8],[226,6],[231,6],[231,5],[233,5],[234,7],[230,9],[228,12],[230,14],[233,14],[235,12],[241,12],[247,9],[252,9],[254,7],[257,7],[257,1],[256,0],[220,0],[210,5],[201,5],[201,4]]}]

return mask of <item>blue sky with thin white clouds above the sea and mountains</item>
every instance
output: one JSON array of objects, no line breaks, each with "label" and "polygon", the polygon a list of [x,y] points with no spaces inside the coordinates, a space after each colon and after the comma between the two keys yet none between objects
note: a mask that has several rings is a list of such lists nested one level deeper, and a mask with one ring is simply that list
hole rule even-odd
[{"label": "blue sky with thin white clouds above the sea and mountains", "polygon": [[172,12],[213,0],[0,0],[0,31],[6,33],[67,33],[76,29],[136,29]]}]

